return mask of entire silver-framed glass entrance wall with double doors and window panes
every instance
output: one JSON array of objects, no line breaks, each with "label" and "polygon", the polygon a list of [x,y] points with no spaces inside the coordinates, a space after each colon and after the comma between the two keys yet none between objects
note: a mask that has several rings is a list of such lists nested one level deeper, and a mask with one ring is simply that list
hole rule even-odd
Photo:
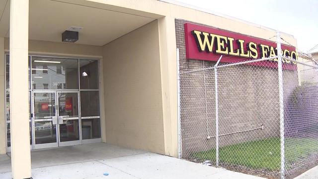
[{"label": "entire silver-framed glass entrance wall with double doors and window panes", "polygon": [[[29,56],[31,149],[101,142],[97,59]],[[10,147],[6,55],[7,147]]]}]

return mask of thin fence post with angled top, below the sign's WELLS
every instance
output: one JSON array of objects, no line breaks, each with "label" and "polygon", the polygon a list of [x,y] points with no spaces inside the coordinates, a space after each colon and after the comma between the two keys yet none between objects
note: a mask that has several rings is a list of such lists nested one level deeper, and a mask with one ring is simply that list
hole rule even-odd
[{"label": "thin fence post with angled top, below the sign's WELLS", "polygon": [[217,61],[217,63],[214,66],[214,84],[215,84],[215,127],[216,127],[216,138],[215,138],[215,143],[216,143],[216,167],[219,167],[219,100],[218,100],[218,69],[216,68],[220,61],[221,58],[223,56],[221,55],[221,57],[219,58],[219,60]]}]

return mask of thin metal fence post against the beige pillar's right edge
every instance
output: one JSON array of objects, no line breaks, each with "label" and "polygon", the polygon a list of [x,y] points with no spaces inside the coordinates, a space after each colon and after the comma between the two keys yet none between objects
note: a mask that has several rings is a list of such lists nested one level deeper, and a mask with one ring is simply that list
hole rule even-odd
[{"label": "thin metal fence post against the beige pillar's right edge", "polygon": [[178,90],[178,158],[181,159],[181,104],[180,104],[180,57],[179,48],[177,48],[177,90]]}]

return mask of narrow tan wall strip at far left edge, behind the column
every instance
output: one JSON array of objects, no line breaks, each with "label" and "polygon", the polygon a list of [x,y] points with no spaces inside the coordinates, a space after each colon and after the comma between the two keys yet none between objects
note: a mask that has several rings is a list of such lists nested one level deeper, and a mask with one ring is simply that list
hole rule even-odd
[{"label": "narrow tan wall strip at far left edge, behind the column", "polygon": [[0,154],[6,152],[4,103],[4,38],[0,37]]}]

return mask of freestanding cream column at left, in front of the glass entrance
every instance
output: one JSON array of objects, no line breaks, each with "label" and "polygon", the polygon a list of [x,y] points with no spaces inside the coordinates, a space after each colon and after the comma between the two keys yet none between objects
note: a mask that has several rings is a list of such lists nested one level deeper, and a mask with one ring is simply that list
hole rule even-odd
[{"label": "freestanding cream column at left, in front of the glass entrance", "polygon": [[13,179],[31,178],[28,99],[29,0],[10,1],[10,119]]}]

